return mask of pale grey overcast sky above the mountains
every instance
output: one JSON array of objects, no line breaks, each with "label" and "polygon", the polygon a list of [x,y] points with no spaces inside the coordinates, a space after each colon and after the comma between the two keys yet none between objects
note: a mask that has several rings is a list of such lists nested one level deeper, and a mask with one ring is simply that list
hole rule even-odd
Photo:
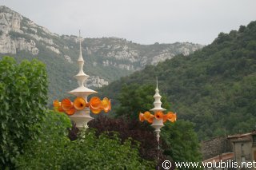
[{"label": "pale grey overcast sky above the mountains", "polygon": [[256,20],[256,0],[0,0],[56,34],[210,44]]}]

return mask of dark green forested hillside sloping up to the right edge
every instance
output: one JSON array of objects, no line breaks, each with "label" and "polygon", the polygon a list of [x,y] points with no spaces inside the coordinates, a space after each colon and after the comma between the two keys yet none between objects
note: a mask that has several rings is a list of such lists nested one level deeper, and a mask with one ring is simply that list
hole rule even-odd
[{"label": "dark green forested hillside sloping up to the right edge", "polygon": [[146,66],[102,88],[101,93],[118,105],[122,85],[154,85],[155,77],[160,93],[167,97],[178,119],[194,122],[200,139],[253,130],[256,22],[229,34],[220,33],[212,44],[193,54]]}]

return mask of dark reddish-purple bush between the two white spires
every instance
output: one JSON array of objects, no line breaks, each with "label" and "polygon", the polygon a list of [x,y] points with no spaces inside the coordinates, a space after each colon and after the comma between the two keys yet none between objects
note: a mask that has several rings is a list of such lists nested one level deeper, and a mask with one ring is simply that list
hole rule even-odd
[{"label": "dark reddish-purple bush between the two white spires", "polygon": [[109,135],[112,135],[113,132],[118,132],[121,140],[132,138],[134,144],[135,141],[138,141],[140,143],[140,155],[146,160],[155,160],[158,156],[158,143],[154,135],[154,129],[147,123],[101,116],[90,121],[88,125],[90,128],[97,129],[98,134],[108,132]]}]

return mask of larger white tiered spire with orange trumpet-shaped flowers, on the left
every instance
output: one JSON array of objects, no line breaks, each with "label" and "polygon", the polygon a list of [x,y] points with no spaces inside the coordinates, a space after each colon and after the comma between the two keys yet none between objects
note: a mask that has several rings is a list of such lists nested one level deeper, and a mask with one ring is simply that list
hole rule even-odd
[{"label": "larger white tiered spire with orange trumpet-shaped flowers, on the left", "polygon": [[[86,80],[89,77],[86,73],[83,72],[84,60],[82,58],[82,45],[81,45],[81,36],[79,30],[79,57],[78,57],[78,74],[74,76],[74,78],[78,81],[78,88],[73,89],[69,92],[69,94],[73,94],[77,98],[74,102],[70,101],[70,99],[63,99],[62,102],[58,102],[58,100],[54,101],[54,109],[58,112],[65,112],[69,115],[70,120],[74,121],[76,127],[78,128],[88,128],[87,123],[93,119],[90,117],[90,110],[94,114],[98,114],[104,110],[105,113],[109,112],[111,109],[110,100],[108,98],[104,98],[102,101],[98,97],[92,97],[88,102],[87,97],[90,94],[97,93],[93,89],[88,89],[86,87]],[[95,101],[95,98],[97,99]],[[97,104],[97,109],[92,106]]]}]

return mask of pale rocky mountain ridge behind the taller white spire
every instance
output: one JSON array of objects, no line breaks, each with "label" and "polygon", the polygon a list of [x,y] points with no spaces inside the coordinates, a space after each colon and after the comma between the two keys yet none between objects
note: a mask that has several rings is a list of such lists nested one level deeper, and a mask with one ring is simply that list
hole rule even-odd
[{"label": "pale rocky mountain ridge behind the taller white spire", "polygon": [[[53,34],[8,7],[0,6],[0,57],[23,57],[25,53],[29,58],[44,61],[50,75],[50,89],[56,89],[56,83],[51,80],[55,81],[57,75],[78,70],[74,64],[78,58],[78,40],[76,36]],[[82,38],[90,87],[108,85],[109,81],[143,69],[145,65],[157,65],[179,53],[188,55],[201,48],[202,45],[189,42],[139,45],[122,38]],[[73,79],[62,77],[58,83],[68,84],[70,80]]]}]

